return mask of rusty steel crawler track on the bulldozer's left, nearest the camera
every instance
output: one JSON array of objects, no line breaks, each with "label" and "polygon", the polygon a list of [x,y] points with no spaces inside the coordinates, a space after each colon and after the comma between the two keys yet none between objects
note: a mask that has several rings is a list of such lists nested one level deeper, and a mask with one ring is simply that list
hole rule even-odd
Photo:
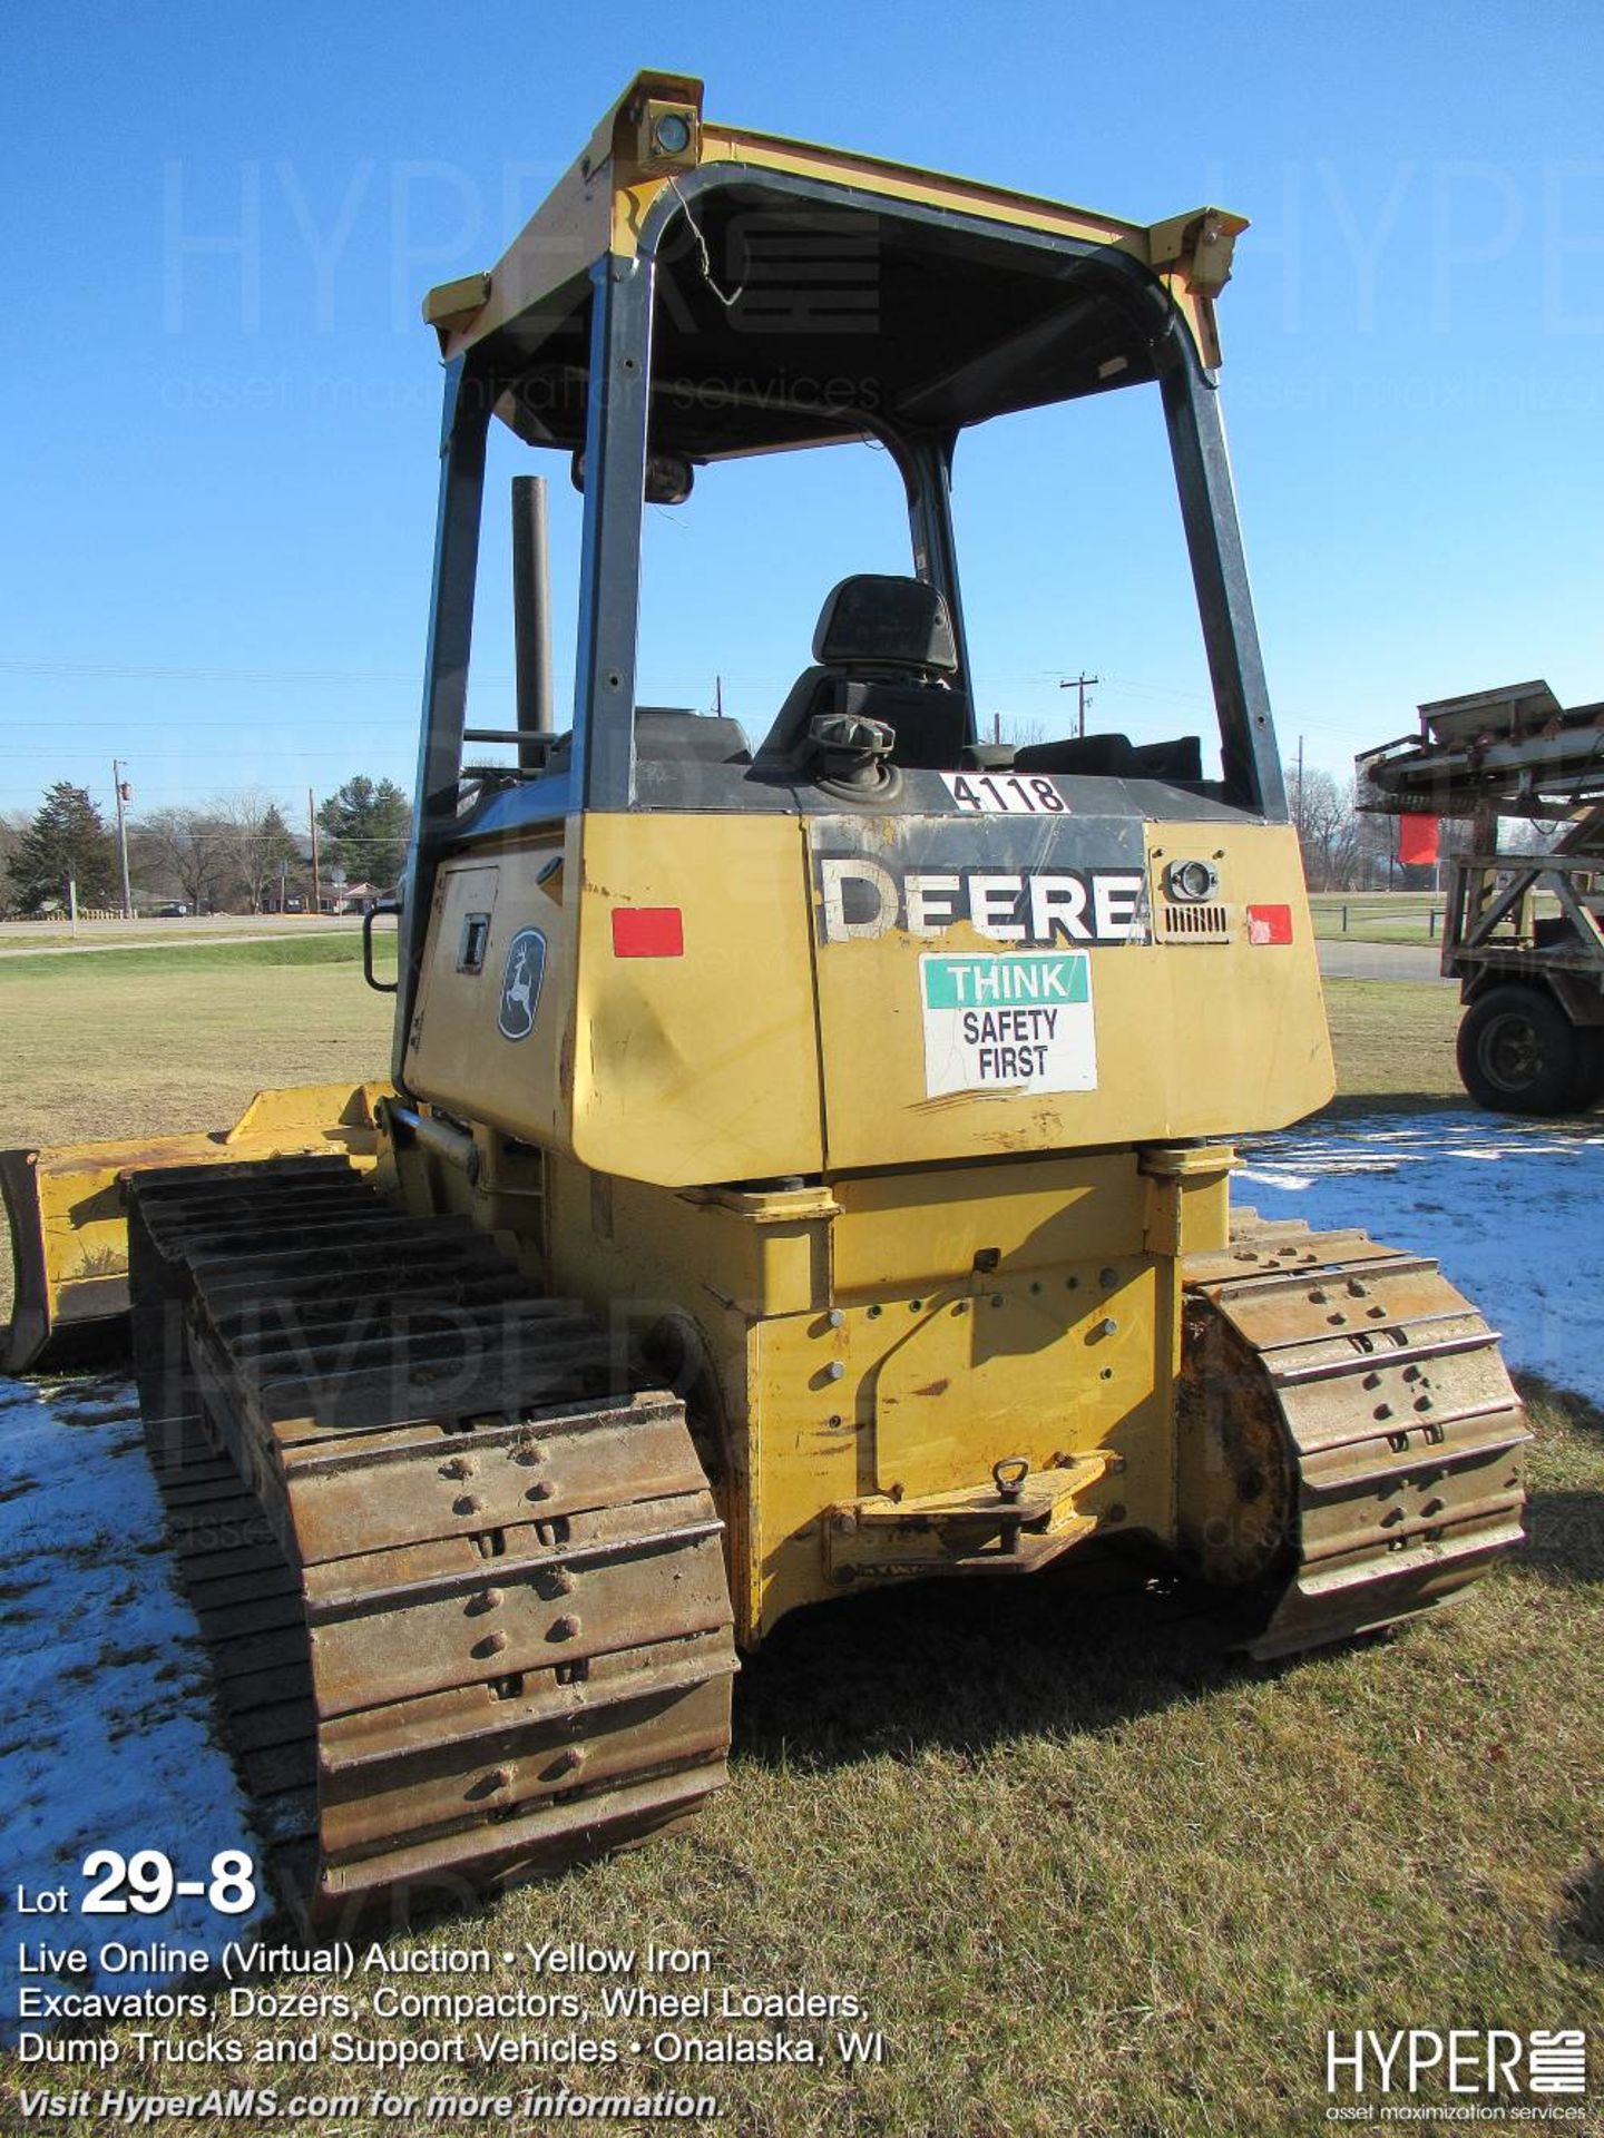
[{"label": "rusty steel crawler track on the bulldozer's left, nearest the camera", "polygon": [[445,1905],[725,1779],[721,1522],[680,1403],[466,1219],[340,1159],[130,1182],[135,1366],[291,1905]]}]

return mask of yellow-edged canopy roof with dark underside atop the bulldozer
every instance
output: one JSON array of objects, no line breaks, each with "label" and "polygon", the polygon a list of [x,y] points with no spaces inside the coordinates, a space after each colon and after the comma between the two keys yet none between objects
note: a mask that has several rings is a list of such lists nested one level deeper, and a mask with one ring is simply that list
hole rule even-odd
[{"label": "yellow-edged canopy roof with dark underside atop the bulldozer", "polygon": [[1215,207],[1123,222],[721,126],[699,81],[644,73],[498,265],[430,291],[423,316],[520,436],[577,447],[592,267],[650,250],[652,445],[716,458],[1129,385],[1176,310],[1213,366],[1243,229]]}]

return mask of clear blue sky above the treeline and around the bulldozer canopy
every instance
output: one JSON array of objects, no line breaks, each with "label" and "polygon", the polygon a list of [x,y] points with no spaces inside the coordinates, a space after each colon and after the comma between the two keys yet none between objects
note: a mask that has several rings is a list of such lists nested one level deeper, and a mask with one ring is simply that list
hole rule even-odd
[{"label": "clear blue sky above the treeline and around the bulldozer canopy", "polygon": [[[1253,220],[1223,391],[1287,755],[1302,735],[1343,768],[1418,699],[1525,676],[1604,697],[1593,0],[682,0],[646,28],[62,0],[13,11],[0,68],[0,808],[60,776],[109,797],[113,755],[139,806],[411,785],[438,423],[417,304],[494,261],[639,64],[701,73],[740,124]],[[1112,396],[965,451],[984,710],[1059,731],[1084,667],[1101,725],[1206,718],[1157,408]],[[496,485],[524,464],[507,443]],[[577,500],[547,472],[567,545]],[[832,579],[903,562],[890,466],[855,447],[714,470],[654,522],[642,693],[706,706],[719,673],[757,729]],[[567,676],[567,554],[556,597]]]}]

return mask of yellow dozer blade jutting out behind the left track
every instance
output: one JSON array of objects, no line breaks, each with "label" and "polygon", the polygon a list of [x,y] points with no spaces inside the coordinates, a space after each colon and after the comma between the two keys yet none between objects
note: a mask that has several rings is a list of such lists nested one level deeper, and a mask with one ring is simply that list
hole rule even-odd
[{"label": "yellow dozer blade jutting out behind the left track", "polygon": [[308,1152],[372,1165],[374,1105],[387,1093],[387,1084],[297,1084],[259,1090],[231,1129],[0,1150],[15,1268],[4,1370],[60,1364],[128,1313],[128,1174]]}]

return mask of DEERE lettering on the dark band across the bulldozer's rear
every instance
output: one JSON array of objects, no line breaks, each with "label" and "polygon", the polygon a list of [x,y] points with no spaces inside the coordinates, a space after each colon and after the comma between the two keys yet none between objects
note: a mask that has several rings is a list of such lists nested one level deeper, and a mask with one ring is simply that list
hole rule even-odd
[{"label": "DEERE lettering on the dark band across the bulldozer's rear", "polygon": [[862,855],[819,859],[826,943],[967,924],[992,943],[1146,943],[1146,881],[1114,868],[954,868],[894,874]]}]

